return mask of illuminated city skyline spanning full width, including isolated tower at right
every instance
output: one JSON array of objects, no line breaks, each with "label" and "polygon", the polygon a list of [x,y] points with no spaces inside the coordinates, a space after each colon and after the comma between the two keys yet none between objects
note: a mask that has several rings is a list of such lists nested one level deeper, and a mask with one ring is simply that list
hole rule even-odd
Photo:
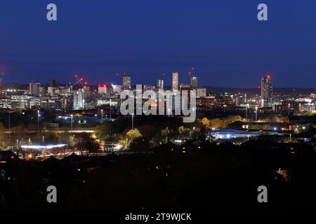
[{"label": "illuminated city skyline spanning full width, including isolated tower at right", "polygon": [[[124,74],[121,85],[111,83],[98,86],[89,86],[79,79],[73,85],[56,85],[55,80],[50,80],[48,85],[41,83],[29,83],[25,90],[7,88],[1,90],[0,109],[25,110],[93,110],[98,107],[110,106],[118,109],[121,103],[120,93],[123,90],[136,91],[131,85],[131,76]],[[74,85],[79,85],[74,89]],[[176,91],[195,90],[197,96],[197,110],[219,109],[225,111],[261,109],[261,111],[275,111],[277,113],[294,113],[315,111],[315,94],[299,97],[275,94],[273,92],[270,75],[261,78],[260,91],[247,95],[245,92],[217,92],[210,94],[206,87],[198,86],[198,78],[190,76],[187,84],[179,83],[179,73],[172,73],[171,87],[164,86],[164,79],[157,80],[157,85],[142,85],[143,91],[162,90]]]}]

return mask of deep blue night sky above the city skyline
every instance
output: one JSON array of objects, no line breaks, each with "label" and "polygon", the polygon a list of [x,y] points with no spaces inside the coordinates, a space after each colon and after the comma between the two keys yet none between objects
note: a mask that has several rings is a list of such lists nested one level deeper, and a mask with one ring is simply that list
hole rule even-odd
[{"label": "deep blue night sky above the city skyline", "polygon": [[[58,21],[46,20],[55,3]],[[258,3],[268,22],[257,20]],[[4,82],[156,83],[195,68],[199,85],[315,87],[316,1],[0,0]]]}]

